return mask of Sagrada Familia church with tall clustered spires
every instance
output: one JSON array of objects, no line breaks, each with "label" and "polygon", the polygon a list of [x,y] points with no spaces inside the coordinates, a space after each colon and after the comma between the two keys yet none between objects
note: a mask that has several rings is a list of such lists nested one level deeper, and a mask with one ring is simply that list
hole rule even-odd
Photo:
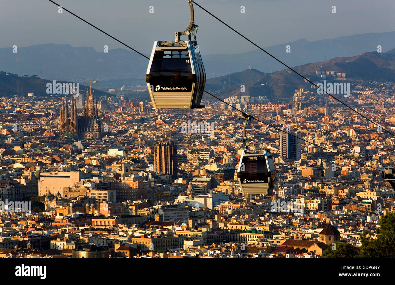
[{"label": "Sagrada Familia church with tall clustered spires", "polygon": [[72,135],[75,139],[91,139],[103,136],[102,120],[99,118],[97,99],[93,96],[84,99],[82,116],[78,115],[76,98],[71,96],[71,108],[69,112],[67,94],[62,100],[60,110],[59,129],[62,135]]}]

